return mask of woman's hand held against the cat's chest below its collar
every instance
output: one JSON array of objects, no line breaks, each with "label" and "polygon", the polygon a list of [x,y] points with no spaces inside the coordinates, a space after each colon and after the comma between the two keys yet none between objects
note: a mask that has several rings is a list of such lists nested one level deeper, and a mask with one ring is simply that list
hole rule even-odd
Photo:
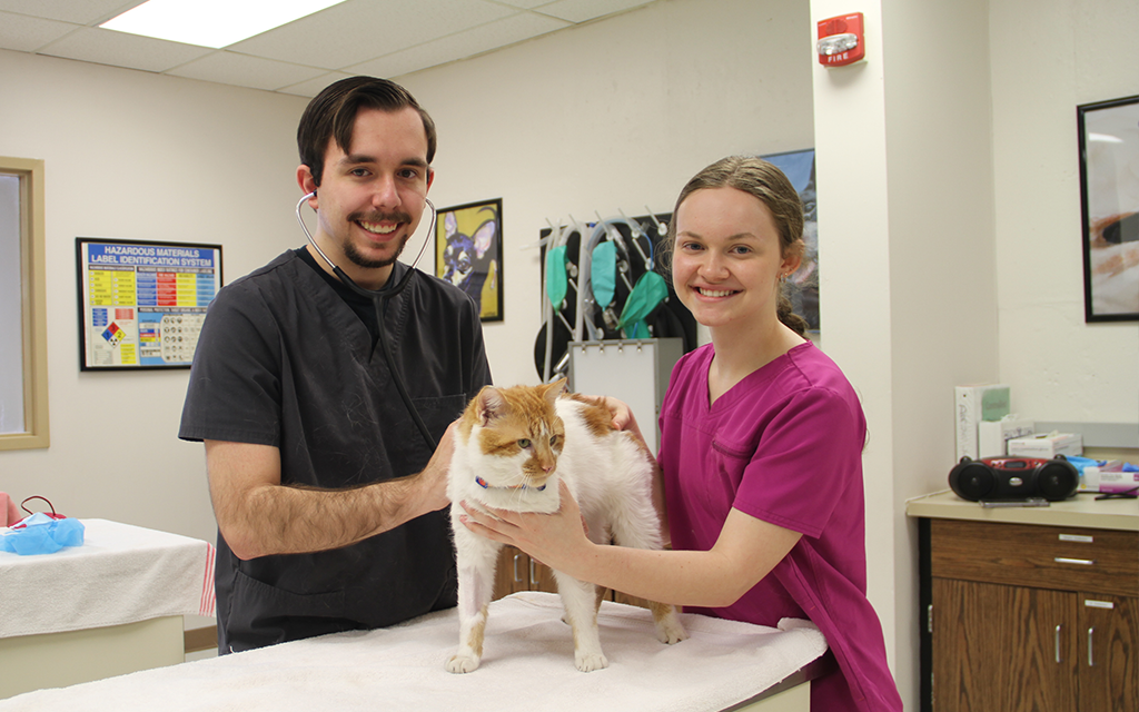
[{"label": "woman's hand held against the cat's chest below its collar", "polygon": [[589,556],[592,542],[585,535],[584,521],[577,501],[565,482],[558,483],[560,505],[552,514],[508,512],[486,507],[490,515],[460,502],[466,512],[459,521],[481,537],[517,547],[546,564],[570,575]]}]

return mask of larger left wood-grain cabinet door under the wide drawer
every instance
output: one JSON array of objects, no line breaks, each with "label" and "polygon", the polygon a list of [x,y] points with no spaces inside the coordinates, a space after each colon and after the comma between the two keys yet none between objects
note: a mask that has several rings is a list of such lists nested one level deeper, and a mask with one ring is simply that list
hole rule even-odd
[{"label": "larger left wood-grain cabinet door under the wide drawer", "polygon": [[1074,594],[934,578],[932,595],[934,710],[1076,711]]}]

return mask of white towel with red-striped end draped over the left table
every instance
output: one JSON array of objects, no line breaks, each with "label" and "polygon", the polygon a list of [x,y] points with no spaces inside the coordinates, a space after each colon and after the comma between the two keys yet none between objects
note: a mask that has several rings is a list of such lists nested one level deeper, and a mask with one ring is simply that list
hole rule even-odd
[{"label": "white towel with red-striped end draped over the left table", "polygon": [[107,519],[80,521],[81,547],[42,556],[0,551],[0,638],[214,615],[211,543]]}]

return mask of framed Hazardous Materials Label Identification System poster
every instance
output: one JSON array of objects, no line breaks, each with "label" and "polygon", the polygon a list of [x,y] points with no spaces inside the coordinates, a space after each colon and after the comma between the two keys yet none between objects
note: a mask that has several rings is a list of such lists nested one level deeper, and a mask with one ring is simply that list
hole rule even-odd
[{"label": "framed Hazardous Materials Label Identification System poster", "polygon": [[221,245],[75,238],[80,370],[189,368]]}]

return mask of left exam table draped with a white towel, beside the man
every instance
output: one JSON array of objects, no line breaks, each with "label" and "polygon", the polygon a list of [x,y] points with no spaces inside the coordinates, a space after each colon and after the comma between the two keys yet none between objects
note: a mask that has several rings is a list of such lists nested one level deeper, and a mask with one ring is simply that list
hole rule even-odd
[{"label": "left exam table draped with a white towel, beside the man", "polygon": [[182,616],[214,614],[212,545],[80,522],[82,546],[0,551],[0,699],[181,663]]}]

